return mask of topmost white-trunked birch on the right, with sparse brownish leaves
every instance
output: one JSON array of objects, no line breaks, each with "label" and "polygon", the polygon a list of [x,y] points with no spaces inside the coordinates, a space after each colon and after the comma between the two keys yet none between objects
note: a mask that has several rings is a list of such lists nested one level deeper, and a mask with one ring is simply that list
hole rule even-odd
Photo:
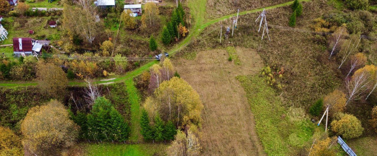
[{"label": "topmost white-trunked birch on the right, with sparse brownish leaves", "polygon": [[330,37],[330,43],[329,46],[331,47],[331,52],[329,59],[331,56],[335,55],[339,50],[340,47],[342,46],[343,39],[345,36],[347,36],[347,29],[346,26],[343,25],[342,27],[339,27],[338,30],[336,30],[333,35]]}]

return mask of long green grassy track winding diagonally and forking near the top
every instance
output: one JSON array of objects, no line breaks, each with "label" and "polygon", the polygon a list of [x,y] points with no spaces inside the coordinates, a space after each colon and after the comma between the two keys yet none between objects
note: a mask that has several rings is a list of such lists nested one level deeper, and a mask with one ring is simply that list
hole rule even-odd
[{"label": "long green grassy track winding diagonally and forking near the top", "polygon": [[[300,0],[300,1],[310,1],[310,0]],[[172,50],[183,46],[184,44],[190,42],[192,39],[195,39],[195,37],[197,37],[200,34],[200,32],[202,30],[204,30],[205,27],[210,26],[211,24],[217,23],[221,20],[228,19],[229,17],[231,17],[233,15],[236,15],[236,13],[233,13],[233,14],[226,15],[226,16],[223,16],[223,17],[220,17],[220,18],[216,18],[214,20],[210,20],[207,23],[204,23],[205,22],[204,17],[205,17],[205,13],[206,13],[206,10],[205,10],[206,3],[207,3],[206,0],[190,0],[190,1],[187,1],[187,6],[190,7],[190,13],[191,13],[193,19],[195,19],[195,22],[193,24],[193,27],[190,30],[190,34],[184,40],[182,40],[182,42],[180,42],[179,44],[174,46],[172,48]],[[268,7],[264,7],[264,8],[265,9],[273,9],[273,8],[276,8],[276,7],[291,5],[292,3],[293,3],[293,1],[289,1],[289,2],[286,2],[286,3],[279,4],[279,5],[268,6]],[[259,11],[262,11],[264,8],[243,11],[243,12],[240,12],[239,15],[245,15],[247,13],[259,12]],[[119,77],[115,78],[114,80],[109,80],[109,81],[96,80],[95,83],[101,84],[101,83],[111,83],[111,82],[114,82],[114,83],[123,82],[123,81],[129,80],[133,77],[136,77],[137,75],[141,74],[143,71],[149,69],[155,63],[158,63],[158,61],[155,60],[155,61],[149,62],[149,63],[139,67],[138,69],[127,72],[124,75],[120,75]],[[25,82],[23,82],[23,83],[22,82],[0,83],[0,87],[18,87],[18,86],[25,87],[25,86],[34,86],[36,84],[37,83],[33,83],[33,82],[28,82],[28,83],[25,83]],[[85,84],[84,84],[84,82],[70,81],[69,85],[70,86],[84,86]]]}]

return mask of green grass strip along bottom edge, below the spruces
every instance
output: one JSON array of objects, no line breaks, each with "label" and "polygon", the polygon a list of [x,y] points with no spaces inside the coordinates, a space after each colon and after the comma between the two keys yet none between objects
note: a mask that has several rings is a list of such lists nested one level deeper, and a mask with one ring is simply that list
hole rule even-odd
[{"label": "green grass strip along bottom edge, below the spruces", "polygon": [[164,155],[167,144],[83,144],[89,156]]}]

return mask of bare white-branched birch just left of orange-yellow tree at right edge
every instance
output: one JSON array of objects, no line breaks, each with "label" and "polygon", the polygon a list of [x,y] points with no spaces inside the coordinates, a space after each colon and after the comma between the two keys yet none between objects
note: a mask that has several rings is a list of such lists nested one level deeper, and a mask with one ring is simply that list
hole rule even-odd
[{"label": "bare white-branched birch just left of orange-yellow tree at right edge", "polygon": [[355,73],[351,80],[346,81],[346,105],[360,99],[361,95],[368,89],[369,77],[370,75],[367,72],[362,71]]}]

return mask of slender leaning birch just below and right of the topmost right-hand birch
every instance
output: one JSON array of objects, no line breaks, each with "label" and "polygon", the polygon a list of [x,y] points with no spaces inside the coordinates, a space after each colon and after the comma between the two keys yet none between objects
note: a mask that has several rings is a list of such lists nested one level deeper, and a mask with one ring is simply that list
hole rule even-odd
[{"label": "slender leaning birch just below and right of the topmost right-hand birch", "polygon": [[355,54],[357,52],[357,48],[359,47],[360,43],[360,35],[359,34],[352,34],[349,39],[346,39],[342,47],[340,48],[340,65],[339,68],[342,67],[343,63],[348,60],[349,55]]}]

